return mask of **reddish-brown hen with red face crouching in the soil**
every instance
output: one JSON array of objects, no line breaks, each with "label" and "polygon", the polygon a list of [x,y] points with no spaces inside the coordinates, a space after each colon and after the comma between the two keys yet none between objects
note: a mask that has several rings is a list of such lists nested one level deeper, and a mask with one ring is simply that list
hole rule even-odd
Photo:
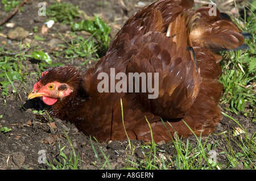
[{"label": "reddish-brown hen with red face crouching in the soil", "polygon": [[217,51],[239,49],[244,37],[228,15],[192,7],[190,0],[143,7],[94,68],[85,74],[72,65],[50,68],[28,99],[41,97],[51,116],[100,142],[127,136],[149,142],[151,134],[167,142],[214,132],[222,120]]}]

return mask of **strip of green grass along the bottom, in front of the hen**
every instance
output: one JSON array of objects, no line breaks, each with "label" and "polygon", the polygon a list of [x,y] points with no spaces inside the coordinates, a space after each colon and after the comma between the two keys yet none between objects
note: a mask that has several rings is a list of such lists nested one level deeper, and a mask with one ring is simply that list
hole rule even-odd
[{"label": "strip of green grass along the bottom, in front of the hen", "polygon": [[[229,118],[232,119],[230,116]],[[237,123],[238,127],[241,127],[236,120],[232,120]],[[241,129],[243,128],[241,127]],[[131,152],[130,154],[126,152],[125,166],[123,169],[226,170],[236,169],[238,166],[242,166],[243,169],[256,169],[255,133],[252,136],[249,136],[246,132],[238,136],[233,136],[233,133],[232,130],[221,133],[224,135],[224,140],[214,140],[213,136],[215,134],[209,135],[208,137],[197,137],[196,135],[182,139],[176,137],[174,141],[170,141],[167,144],[167,146],[175,149],[176,154],[172,155],[168,154],[166,150],[159,149],[153,138],[151,142],[141,145],[141,149],[146,150],[143,151],[143,159],[136,157]],[[129,145],[130,143],[127,143],[127,146]],[[93,150],[98,159],[99,155],[97,151],[95,149]],[[102,151],[101,154],[105,155]],[[105,155],[104,158],[109,163],[109,157]],[[100,162],[99,159],[98,162]],[[99,167],[102,169],[102,164]]]}]

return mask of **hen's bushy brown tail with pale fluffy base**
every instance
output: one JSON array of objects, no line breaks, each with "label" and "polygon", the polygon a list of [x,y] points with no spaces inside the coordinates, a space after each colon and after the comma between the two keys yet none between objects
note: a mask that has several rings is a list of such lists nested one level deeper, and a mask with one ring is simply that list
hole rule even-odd
[{"label": "hen's bushy brown tail with pale fluffy base", "polygon": [[192,42],[213,51],[247,48],[243,42],[251,37],[250,33],[242,32],[229,15],[218,9],[215,16],[210,16],[210,8],[205,5],[195,11],[201,14],[201,18],[189,33]]}]

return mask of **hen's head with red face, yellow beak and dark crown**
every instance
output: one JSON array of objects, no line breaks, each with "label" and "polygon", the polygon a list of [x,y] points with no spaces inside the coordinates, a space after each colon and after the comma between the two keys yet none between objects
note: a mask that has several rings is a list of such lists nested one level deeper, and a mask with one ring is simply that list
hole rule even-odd
[{"label": "hen's head with red face, yellow beak and dark crown", "polygon": [[43,102],[51,106],[77,90],[81,79],[81,72],[71,65],[50,68],[42,73],[28,99],[42,97]]}]

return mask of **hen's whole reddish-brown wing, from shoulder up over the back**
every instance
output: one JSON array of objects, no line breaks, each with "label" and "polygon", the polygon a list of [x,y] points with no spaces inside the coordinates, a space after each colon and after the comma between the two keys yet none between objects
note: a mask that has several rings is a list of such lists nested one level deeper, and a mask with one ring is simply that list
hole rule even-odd
[{"label": "hen's whole reddish-brown wing, from shoulder up over the back", "polygon": [[[140,83],[138,103],[144,111],[164,118],[182,117],[193,104],[200,85],[199,70],[187,50],[185,19],[180,16],[191,6],[192,1],[158,1],[135,13],[118,32],[96,69],[87,72],[85,89],[88,94],[97,94],[94,85],[100,82],[98,74],[105,72],[110,78],[110,68],[115,68],[115,74],[145,73],[147,76],[151,73],[152,78],[158,73],[157,82],[152,80],[152,87],[159,88],[155,90],[159,93],[157,98],[148,99],[154,93],[143,93]],[[129,84],[127,92],[129,86],[135,88],[135,84]],[[118,100],[124,95],[101,94],[104,99],[108,97],[107,100]]]}]

